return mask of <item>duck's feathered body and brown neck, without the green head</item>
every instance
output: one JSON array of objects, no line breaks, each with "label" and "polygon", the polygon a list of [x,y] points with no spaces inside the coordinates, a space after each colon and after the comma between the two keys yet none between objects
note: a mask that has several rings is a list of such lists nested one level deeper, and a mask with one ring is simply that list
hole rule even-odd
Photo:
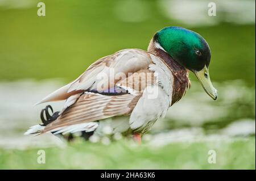
[{"label": "duck's feathered body and brown neck, without the green head", "polygon": [[148,131],[190,86],[189,70],[167,53],[156,35],[147,51],[125,49],[100,58],[43,99],[40,103],[66,103],[56,120],[31,127],[26,134],[93,132],[109,117],[113,133]]}]

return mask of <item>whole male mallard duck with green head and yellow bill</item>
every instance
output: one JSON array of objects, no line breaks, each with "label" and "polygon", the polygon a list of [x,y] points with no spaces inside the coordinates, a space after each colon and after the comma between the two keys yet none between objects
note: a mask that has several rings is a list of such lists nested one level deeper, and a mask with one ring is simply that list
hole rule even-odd
[{"label": "whole male mallard duck with green head and yellow bill", "polygon": [[[166,27],[155,33],[147,51],[124,49],[100,58],[75,81],[39,103],[66,100],[52,116],[42,110],[43,124],[25,134],[93,133],[113,117],[113,132],[131,132],[140,139],[190,87],[189,70],[205,92],[217,99],[209,77],[210,49],[198,33]],[[46,113],[46,120],[44,119]]]}]

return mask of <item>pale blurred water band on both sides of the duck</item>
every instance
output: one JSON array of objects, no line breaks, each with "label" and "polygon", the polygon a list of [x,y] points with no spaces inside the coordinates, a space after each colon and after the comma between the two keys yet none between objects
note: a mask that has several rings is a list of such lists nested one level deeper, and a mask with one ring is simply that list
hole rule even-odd
[{"label": "pale blurred water band on both sides of the duck", "polygon": [[[40,123],[40,110],[47,105],[34,104],[62,85],[60,79],[0,82],[0,99],[4,103],[0,104],[0,124],[3,125],[0,127],[0,146],[63,145],[50,133],[38,137],[23,135],[29,127]],[[220,87],[220,99],[214,102],[199,83],[192,82],[191,90],[170,108],[165,119],[156,122],[144,140],[150,144],[166,145],[170,142],[254,136],[254,89],[244,86],[242,81],[216,83],[216,86]],[[51,105],[58,111],[63,104],[61,101]],[[104,139],[102,141],[104,143]]]}]

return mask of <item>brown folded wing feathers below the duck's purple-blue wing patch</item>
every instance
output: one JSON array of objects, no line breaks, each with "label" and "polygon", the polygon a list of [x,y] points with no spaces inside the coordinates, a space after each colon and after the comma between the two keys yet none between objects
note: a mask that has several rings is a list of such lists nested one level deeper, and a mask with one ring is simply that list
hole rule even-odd
[{"label": "brown folded wing feathers below the duck's purple-blue wing patch", "polygon": [[61,113],[57,120],[48,124],[42,133],[68,125],[88,123],[118,115],[129,115],[140,97],[141,95],[108,96],[84,92],[72,106]]}]

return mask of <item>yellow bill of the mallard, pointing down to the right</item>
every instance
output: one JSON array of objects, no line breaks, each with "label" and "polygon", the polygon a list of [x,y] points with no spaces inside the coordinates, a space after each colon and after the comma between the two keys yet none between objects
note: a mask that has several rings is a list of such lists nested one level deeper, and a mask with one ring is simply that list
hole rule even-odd
[{"label": "yellow bill of the mallard, pointing down to the right", "polygon": [[217,90],[213,87],[212,81],[210,81],[209,70],[205,66],[200,71],[195,71],[196,77],[199,79],[201,85],[203,86],[205,92],[213,99],[217,99]]}]

